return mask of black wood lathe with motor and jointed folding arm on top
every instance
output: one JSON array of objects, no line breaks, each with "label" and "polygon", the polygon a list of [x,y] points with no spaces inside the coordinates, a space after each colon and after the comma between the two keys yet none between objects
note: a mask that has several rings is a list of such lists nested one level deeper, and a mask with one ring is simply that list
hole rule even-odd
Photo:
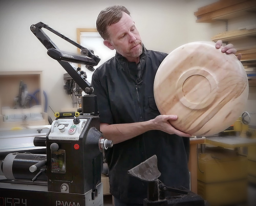
[{"label": "black wood lathe with motor and jointed folding arm on top", "polygon": [[[60,51],[42,28],[81,49],[81,55]],[[0,205],[103,205],[102,151],[113,144],[99,131],[93,87],[72,64],[94,70],[100,58],[42,22],[30,30],[87,95],[82,97],[79,115],[59,116],[46,137],[34,139],[35,146],[46,146],[46,154],[10,153],[5,157]]]}]

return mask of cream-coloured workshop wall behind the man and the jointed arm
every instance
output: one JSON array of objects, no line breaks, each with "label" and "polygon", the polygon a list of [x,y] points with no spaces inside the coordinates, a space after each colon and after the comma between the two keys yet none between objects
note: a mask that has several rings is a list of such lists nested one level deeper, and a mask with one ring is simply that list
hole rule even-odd
[{"label": "cream-coloured workshop wall behind the man and the jointed arm", "polygon": [[[77,28],[96,28],[98,13],[110,5],[124,5],[140,31],[147,49],[169,53],[190,41],[210,41],[225,24],[196,23],[194,12],[217,0],[0,0],[0,71],[42,71],[42,87],[48,103],[59,111],[72,107],[63,89],[66,71],[30,31],[39,21],[77,41]],[[77,52],[70,43],[49,34],[60,50]],[[48,109],[54,118],[53,112]]]}]

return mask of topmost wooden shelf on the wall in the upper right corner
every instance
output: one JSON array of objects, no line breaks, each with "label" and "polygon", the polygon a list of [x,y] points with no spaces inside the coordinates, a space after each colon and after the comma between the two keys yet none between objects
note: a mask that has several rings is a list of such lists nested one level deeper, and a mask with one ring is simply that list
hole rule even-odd
[{"label": "topmost wooden shelf on the wall in the upper right corner", "polygon": [[218,2],[200,7],[194,12],[196,22],[214,22],[239,17],[248,12],[255,12],[255,0],[220,0]]}]

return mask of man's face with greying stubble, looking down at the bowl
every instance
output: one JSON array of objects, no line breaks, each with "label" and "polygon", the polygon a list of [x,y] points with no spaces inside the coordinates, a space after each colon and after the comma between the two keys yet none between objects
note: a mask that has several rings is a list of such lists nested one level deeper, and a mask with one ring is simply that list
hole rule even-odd
[{"label": "man's face with greying stubble, looking down at the bowl", "polygon": [[128,61],[139,62],[142,53],[140,34],[131,16],[123,12],[122,18],[108,28],[110,38],[104,44],[111,50],[116,50]]}]

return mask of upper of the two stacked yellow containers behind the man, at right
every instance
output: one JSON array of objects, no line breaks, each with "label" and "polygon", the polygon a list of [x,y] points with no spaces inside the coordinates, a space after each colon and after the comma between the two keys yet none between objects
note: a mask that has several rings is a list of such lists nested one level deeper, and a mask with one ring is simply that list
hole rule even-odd
[{"label": "upper of the two stacked yellow containers behind the man, at right", "polygon": [[235,151],[214,147],[198,157],[198,180],[210,183],[247,178],[247,158]]}]

